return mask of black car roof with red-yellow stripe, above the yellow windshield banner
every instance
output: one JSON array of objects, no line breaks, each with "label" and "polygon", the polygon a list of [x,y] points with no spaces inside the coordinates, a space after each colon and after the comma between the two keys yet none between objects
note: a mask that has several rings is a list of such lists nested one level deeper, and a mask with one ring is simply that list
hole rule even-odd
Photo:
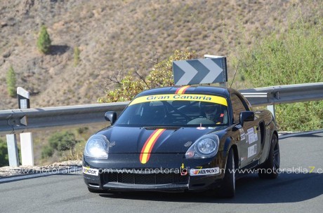
[{"label": "black car roof with red-yellow stripe, above the yellow windshield banner", "polygon": [[[184,86],[173,86],[164,88],[154,88],[140,92],[136,97],[145,95],[157,95],[157,94],[175,94],[180,88]],[[186,86],[187,87],[187,86]],[[222,88],[216,86],[188,86],[185,90],[185,94],[212,94],[220,95],[224,97],[230,97],[231,92],[237,92],[237,90],[231,88]],[[182,93],[183,94],[183,93]]]}]

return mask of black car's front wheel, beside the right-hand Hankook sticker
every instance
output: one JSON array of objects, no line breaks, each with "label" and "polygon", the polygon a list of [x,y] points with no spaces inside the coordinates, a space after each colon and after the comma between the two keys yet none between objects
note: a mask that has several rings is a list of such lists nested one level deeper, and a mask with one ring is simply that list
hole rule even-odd
[{"label": "black car's front wheel, beside the right-hand Hankook sticker", "polygon": [[232,149],[230,149],[228,154],[225,175],[218,192],[221,198],[232,198],[235,196],[235,158]]}]

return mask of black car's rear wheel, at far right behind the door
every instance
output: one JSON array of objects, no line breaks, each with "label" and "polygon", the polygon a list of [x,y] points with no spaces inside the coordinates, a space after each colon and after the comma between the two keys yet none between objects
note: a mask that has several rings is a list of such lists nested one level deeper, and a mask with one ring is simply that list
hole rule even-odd
[{"label": "black car's rear wheel, at far right behind the door", "polygon": [[270,143],[270,151],[268,159],[263,163],[263,166],[258,170],[258,176],[264,179],[275,179],[278,177],[280,163],[279,144],[277,136],[272,135]]}]

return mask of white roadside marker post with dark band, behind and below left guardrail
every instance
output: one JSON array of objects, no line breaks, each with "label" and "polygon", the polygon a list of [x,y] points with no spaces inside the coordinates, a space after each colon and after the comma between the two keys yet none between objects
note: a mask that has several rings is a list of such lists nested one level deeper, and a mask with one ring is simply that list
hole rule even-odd
[{"label": "white roadside marker post with dark band, behind and below left guardrail", "polygon": [[[29,92],[24,88],[17,88],[19,109],[29,109]],[[27,118],[25,121],[27,125]],[[34,146],[32,132],[20,133],[21,163],[22,165],[34,165]]]}]

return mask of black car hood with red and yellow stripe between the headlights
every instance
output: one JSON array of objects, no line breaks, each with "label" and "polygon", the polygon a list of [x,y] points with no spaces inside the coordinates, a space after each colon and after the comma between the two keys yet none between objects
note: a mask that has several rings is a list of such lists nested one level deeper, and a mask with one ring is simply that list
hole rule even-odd
[{"label": "black car hood with red and yellow stripe between the headlights", "polygon": [[[100,131],[110,141],[109,153],[185,153],[199,137],[222,128],[129,128]],[[146,148],[147,147],[147,148]],[[145,149],[146,148],[146,149]]]}]

